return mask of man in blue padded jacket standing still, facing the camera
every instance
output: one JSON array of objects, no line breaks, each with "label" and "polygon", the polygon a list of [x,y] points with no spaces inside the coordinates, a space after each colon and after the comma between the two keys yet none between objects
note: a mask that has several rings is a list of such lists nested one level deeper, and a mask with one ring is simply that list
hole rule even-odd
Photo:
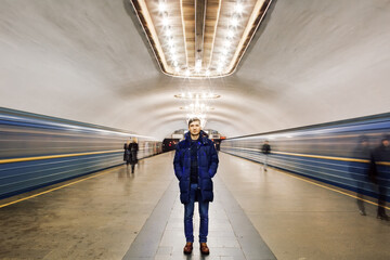
[{"label": "man in blue padded jacket standing still, facing the camera", "polygon": [[192,118],[188,121],[188,132],[176,148],[174,174],[179,180],[180,200],[184,204],[184,233],[186,244],[183,252],[192,253],[194,243],[194,204],[198,202],[200,226],[200,252],[209,255],[207,247],[208,208],[213,199],[212,180],[217,173],[218,155],[211,140],[202,131],[200,120]]}]

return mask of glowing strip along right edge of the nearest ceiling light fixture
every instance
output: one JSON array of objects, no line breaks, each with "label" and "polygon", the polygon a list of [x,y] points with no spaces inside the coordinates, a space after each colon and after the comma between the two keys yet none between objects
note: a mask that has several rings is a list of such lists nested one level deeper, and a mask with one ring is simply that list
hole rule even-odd
[{"label": "glowing strip along right edge of the nearest ceiling light fixture", "polygon": [[[272,2],[272,0],[258,0],[257,1],[255,10],[253,10],[252,14],[250,15],[248,24],[245,28],[244,35],[239,40],[238,48],[236,49],[236,52],[234,53],[231,64],[229,65],[227,72],[230,72],[230,74],[233,74],[235,72],[235,69],[237,69],[238,63],[243,58],[244,53],[248,49],[253,36],[256,35],[256,31],[257,31],[258,27],[260,26],[266,11],[269,10],[271,2]],[[266,3],[266,8],[265,8],[264,12],[261,14],[261,10],[262,10],[262,6],[264,5],[264,3]],[[259,17],[259,15],[261,15],[261,17],[260,17],[259,22],[257,22],[256,27],[253,28],[252,25],[256,24],[256,20]],[[251,36],[250,36],[250,39],[248,40],[248,36],[250,32],[251,32]],[[246,43],[246,41],[247,41],[247,43]]]}]

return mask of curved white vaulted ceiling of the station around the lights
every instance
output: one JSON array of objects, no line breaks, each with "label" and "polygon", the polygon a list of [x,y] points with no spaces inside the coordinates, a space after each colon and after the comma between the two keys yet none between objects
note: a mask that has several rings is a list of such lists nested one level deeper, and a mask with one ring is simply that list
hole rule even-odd
[{"label": "curved white vaulted ceiling of the station around the lights", "polygon": [[126,0],[3,0],[1,106],[165,138],[182,91],[209,91],[227,136],[390,110],[389,0],[277,0],[237,72],[164,76]]}]

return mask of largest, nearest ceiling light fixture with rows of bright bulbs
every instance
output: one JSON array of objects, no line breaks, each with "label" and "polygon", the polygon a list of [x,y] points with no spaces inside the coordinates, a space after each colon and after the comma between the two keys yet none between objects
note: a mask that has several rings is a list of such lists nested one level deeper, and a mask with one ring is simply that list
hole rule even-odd
[{"label": "largest, nearest ceiling light fixture with rows of bright bulbs", "polygon": [[161,72],[172,77],[200,79],[225,77],[236,70],[272,2],[129,1]]}]

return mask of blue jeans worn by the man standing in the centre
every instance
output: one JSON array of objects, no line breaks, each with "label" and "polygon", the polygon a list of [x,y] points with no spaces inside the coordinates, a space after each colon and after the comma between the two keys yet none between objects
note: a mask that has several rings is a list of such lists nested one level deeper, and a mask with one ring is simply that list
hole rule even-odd
[{"label": "blue jeans worn by the man standing in the centre", "polygon": [[198,188],[197,183],[191,183],[190,203],[184,205],[185,238],[186,238],[186,242],[194,242],[193,216],[194,216],[194,205],[195,205],[196,197],[198,198],[198,208],[199,208],[199,216],[200,216],[199,243],[206,243],[207,235],[208,235],[208,205],[209,205],[209,202],[202,202],[200,190]]}]

